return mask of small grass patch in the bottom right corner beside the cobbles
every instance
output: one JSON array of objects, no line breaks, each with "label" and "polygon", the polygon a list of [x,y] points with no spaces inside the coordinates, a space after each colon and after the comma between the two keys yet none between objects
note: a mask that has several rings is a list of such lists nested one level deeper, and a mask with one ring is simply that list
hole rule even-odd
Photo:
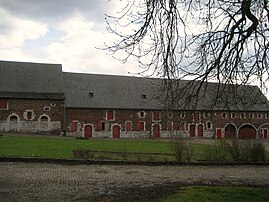
[{"label": "small grass patch in the bottom right corner beside the cobbles", "polygon": [[178,193],[167,196],[161,202],[191,202],[191,201],[269,201],[269,190],[249,187],[185,187]]}]

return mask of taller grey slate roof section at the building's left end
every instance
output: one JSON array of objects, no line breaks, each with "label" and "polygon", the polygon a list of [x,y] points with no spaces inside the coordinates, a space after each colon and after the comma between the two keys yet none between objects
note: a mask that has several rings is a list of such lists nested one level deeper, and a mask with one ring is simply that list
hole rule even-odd
[{"label": "taller grey slate roof section at the building's left end", "polygon": [[62,66],[0,61],[0,96],[64,99]]}]

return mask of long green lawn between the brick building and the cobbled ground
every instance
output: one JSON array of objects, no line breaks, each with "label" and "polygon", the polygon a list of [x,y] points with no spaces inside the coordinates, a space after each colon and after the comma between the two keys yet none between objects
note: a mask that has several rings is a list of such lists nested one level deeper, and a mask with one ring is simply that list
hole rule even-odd
[{"label": "long green lawn between the brick building and the cobbled ground", "polygon": [[[212,140],[210,140],[212,142]],[[192,161],[205,159],[205,151],[216,147],[208,145],[210,141],[204,140],[203,144],[192,143]],[[216,140],[217,141],[217,140]],[[45,136],[45,135],[3,135],[0,136],[0,156],[16,157],[44,157],[44,158],[67,158],[72,159],[73,150],[90,150],[95,158],[138,160],[142,158],[150,161],[176,161],[172,155],[171,144],[165,140],[148,139],[75,139],[71,137]],[[93,151],[93,152],[92,152]],[[108,156],[96,151],[118,152],[119,154]],[[213,155],[215,155],[214,153]],[[135,154],[131,154],[135,153]],[[139,155],[137,153],[140,153]],[[128,155],[126,155],[128,154]],[[137,155],[136,155],[137,154]],[[143,155],[145,154],[145,155]],[[158,154],[158,155],[157,155]],[[104,156],[106,155],[106,156]],[[126,158],[127,156],[127,158]],[[267,152],[267,159],[269,158]]]}]

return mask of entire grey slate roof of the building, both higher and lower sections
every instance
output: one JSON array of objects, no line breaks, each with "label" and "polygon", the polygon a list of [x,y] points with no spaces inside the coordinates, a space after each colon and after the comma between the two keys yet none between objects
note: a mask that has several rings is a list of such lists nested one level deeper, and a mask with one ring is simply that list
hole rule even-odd
[{"label": "entire grey slate roof of the building, both higher and lower sections", "polygon": [[176,100],[172,109],[177,110],[269,112],[269,101],[257,86],[224,88],[221,84],[216,96],[218,84],[207,83],[196,96],[192,92],[195,87],[185,87],[188,82],[173,81],[171,88],[166,88],[172,89],[171,93],[162,90],[167,83],[163,79],[67,73],[60,64],[0,61],[0,97],[5,98],[65,99],[67,108],[161,110],[172,95]]}]

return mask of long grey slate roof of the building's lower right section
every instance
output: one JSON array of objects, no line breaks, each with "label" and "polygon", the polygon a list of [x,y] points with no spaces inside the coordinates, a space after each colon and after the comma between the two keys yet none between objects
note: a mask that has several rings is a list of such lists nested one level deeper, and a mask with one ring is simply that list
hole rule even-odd
[{"label": "long grey slate roof of the building's lower right section", "polygon": [[[63,73],[67,108],[102,108],[102,109],[151,109],[165,108],[165,91],[162,91],[163,79],[140,78],[115,75]],[[179,81],[184,89],[189,81]],[[202,88],[193,107],[183,99],[181,91],[177,93],[177,110],[244,110],[268,111],[269,102],[257,86],[239,86],[237,95],[221,89],[216,100],[217,83],[207,83]],[[220,86],[223,88],[223,85]],[[229,90],[229,89],[228,89]],[[174,91],[176,92],[176,91]],[[92,93],[92,95],[90,95]],[[143,98],[142,95],[146,95]],[[213,102],[216,101],[215,104]],[[186,105],[190,104],[190,105]],[[213,106],[213,107],[212,107]]]}]

